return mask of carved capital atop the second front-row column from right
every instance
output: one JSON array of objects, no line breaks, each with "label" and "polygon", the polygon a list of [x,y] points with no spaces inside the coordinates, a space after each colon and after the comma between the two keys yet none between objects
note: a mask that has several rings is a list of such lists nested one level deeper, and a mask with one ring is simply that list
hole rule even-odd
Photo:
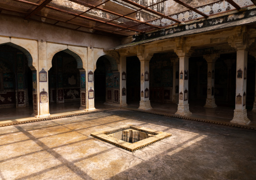
[{"label": "carved capital atop the second front-row column from right", "polygon": [[186,46],[185,38],[179,37],[175,39],[176,49],[174,52],[177,54],[178,57],[190,57],[193,53],[193,50],[190,46]]}]

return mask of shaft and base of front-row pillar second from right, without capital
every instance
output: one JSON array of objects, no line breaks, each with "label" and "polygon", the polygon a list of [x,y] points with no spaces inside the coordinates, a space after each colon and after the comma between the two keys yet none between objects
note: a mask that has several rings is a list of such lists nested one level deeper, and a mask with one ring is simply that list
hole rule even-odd
[{"label": "shaft and base of front-row pillar second from right, without capital", "polygon": [[177,115],[192,114],[189,111],[188,105],[188,59],[189,55],[186,53],[178,54],[179,56],[179,103]]}]

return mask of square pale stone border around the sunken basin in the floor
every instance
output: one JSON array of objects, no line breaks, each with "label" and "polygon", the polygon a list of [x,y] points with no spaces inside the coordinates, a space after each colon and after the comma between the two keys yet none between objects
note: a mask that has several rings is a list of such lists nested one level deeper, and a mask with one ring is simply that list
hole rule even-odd
[{"label": "square pale stone border around the sunken basin in the floor", "polygon": [[[135,143],[129,143],[117,138],[114,138],[112,136],[110,136],[109,134],[115,133],[115,132],[119,132],[119,131],[123,131],[126,129],[134,129],[134,130],[138,130],[141,132],[145,132],[148,134],[152,134],[154,136],[148,137],[146,139],[140,140],[138,142]],[[157,131],[157,130],[153,130],[150,128],[146,128],[146,127],[142,127],[142,126],[135,126],[135,125],[125,125],[125,126],[121,126],[121,127],[117,127],[117,128],[113,128],[111,130],[107,130],[107,131],[99,131],[99,132],[93,132],[91,133],[91,136],[96,137],[100,140],[106,141],[108,143],[111,143],[113,145],[116,145],[118,147],[121,147],[123,149],[129,150],[129,151],[135,151],[137,149],[140,149],[142,147],[145,147],[147,145],[150,145],[154,142],[160,141],[162,139],[165,139],[167,137],[170,137],[172,134],[167,133],[167,132],[162,132],[162,131]]]}]

